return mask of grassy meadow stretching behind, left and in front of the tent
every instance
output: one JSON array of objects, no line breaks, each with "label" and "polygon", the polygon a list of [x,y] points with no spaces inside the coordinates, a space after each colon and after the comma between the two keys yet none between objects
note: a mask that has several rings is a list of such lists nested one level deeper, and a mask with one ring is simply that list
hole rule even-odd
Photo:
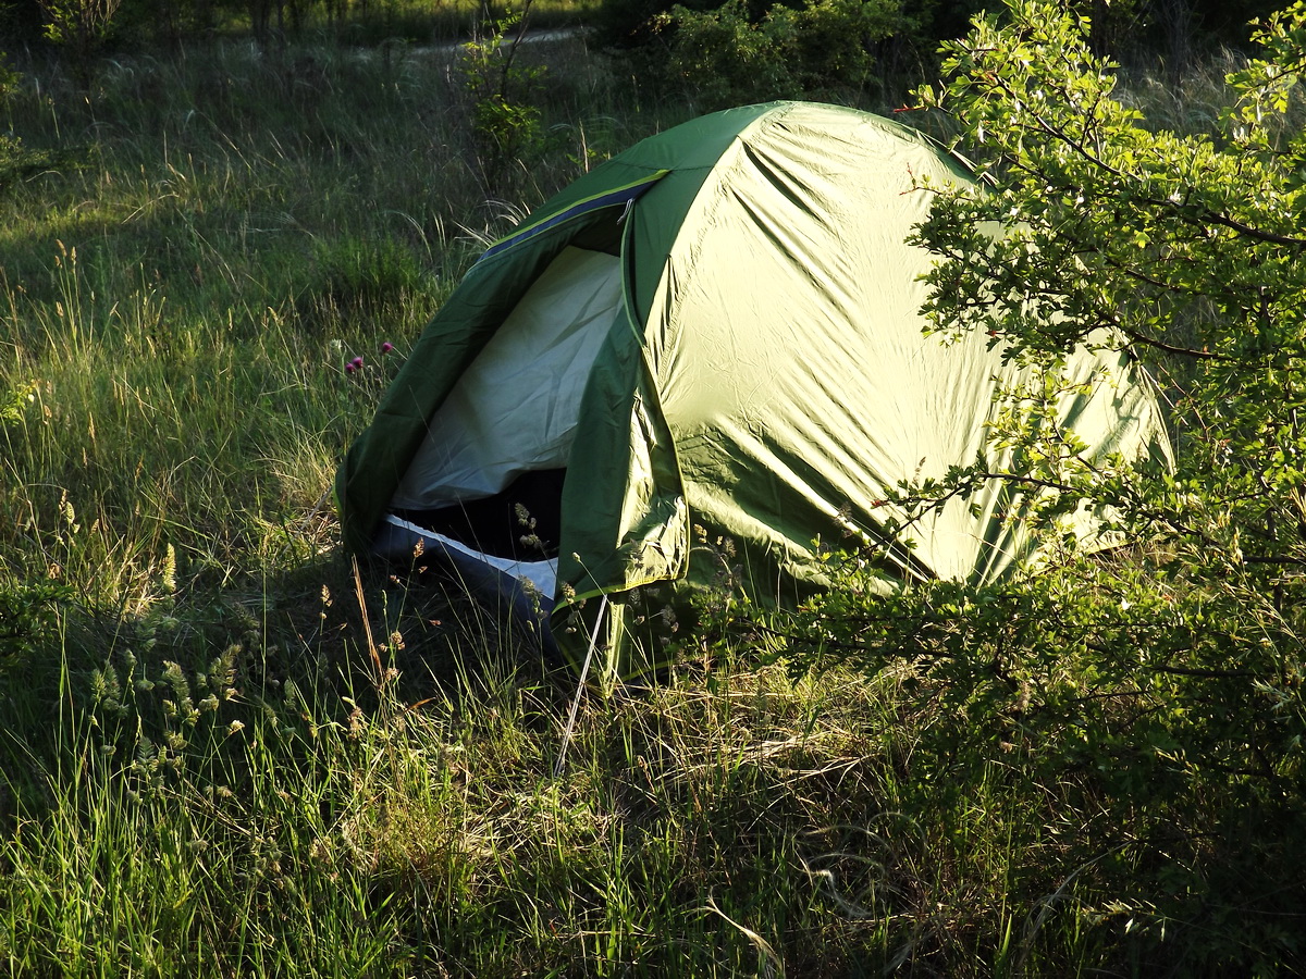
[{"label": "grassy meadow stretching behind, left and in front of the tent", "polygon": [[[20,65],[0,971],[1290,962],[1290,933],[1242,946],[1235,915],[1168,945],[1183,923],[1140,869],[1160,858],[1105,825],[1092,773],[940,756],[948,706],[905,664],[801,675],[756,636],[695,637],[665,683],[585,697],[555,777],[571,674],[434,574],[341,552],[336,466],[470,261],[695,114],[584,35],[511,72],[500,43],[218,39],[116,56],[89,86]],[[504,93],[533,114],[487,115]]]}]

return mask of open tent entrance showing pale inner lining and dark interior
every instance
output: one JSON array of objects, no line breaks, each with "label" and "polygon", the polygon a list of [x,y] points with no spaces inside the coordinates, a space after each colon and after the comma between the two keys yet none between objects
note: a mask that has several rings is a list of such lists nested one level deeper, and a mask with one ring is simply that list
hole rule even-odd
[{"label": "open tent entrance showing pale inner lining and dark interior", "polygon": [[462,574],[507,576],[500,593],[529,580],[551,607],[581,394],[620,304],[615,255],[568,245],[554,258],[431,418],[379,550],[421,539]]}]

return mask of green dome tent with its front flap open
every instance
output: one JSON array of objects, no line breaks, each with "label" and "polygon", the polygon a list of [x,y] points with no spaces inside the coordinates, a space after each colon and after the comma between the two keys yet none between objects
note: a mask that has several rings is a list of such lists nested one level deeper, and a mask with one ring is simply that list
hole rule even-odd
[{"label": "green dome tent with its front flap open", "polygon": [[[594,168],[423,332],[340,470],[346,546],[422,540],[491,585],[529,580],[560,640],[607,595],[610,676],[658,659],[644,586],[725,560],[755,600],[820,587],[818,538],[874,533],[885,489],[973,461],[1017,371],[986,338],[921,333],[930,260],[904,239],[923,178],[969,180],[910,129],[811,103],[704,116]],[[1165,454],[1145,379],[1106,368],[1066,423],[1091,453]],[[987,581],[1030,560],[1003,500],[955,501],[887,569]]]}]

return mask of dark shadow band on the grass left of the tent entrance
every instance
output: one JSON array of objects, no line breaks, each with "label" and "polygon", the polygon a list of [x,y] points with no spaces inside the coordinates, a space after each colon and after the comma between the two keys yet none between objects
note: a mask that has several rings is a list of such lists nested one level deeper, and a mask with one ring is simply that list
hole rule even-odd
[{"label": "dark shadow band on the grass left of the tent entrance", "polygon": [[247,769],[235,735],[269,723],[311,752],[324,726],[508,697],[552,736],[575,692],[509,610],[431,568],[340,552],[136,615],[54,611],[47,634],[0,660],[0,838],[47,817],[59,785],[93,764],[142,786],[229,785]]}]

